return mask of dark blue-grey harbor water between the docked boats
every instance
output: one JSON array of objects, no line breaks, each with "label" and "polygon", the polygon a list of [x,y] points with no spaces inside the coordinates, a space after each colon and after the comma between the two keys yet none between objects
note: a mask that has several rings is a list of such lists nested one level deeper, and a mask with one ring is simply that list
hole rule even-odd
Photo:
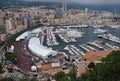
[{"label": "dark blue-grey harbor water between the docked boats", "polygon": [[[47,38],[46,38],[47,36],[45,36],[44,43],[43,43],[44,46],[48,46],[48,47],[52,48],[53,50],[63,51],[67,54],[69,54],[69,52],[64,49],[65,46],[74,45],[78,49],[80,49],[81,51],[86,53],[87,51],[85,51],[83,48],[80,48],[80,45],[87,44],[88,42],[93,42],[95,40],[103,41],[105,43],[120,47],[119,43],[115,43],[115,42],[112,42],[112,41],[109,41],[109,40],[106,40],[103,38],[98,38],[98,35],[101,35],[103,33],[94,33],[95,28],[93,28],[93,27],[74,28],[74,29],[78,30],[80,32],[84,32],[83,37],[75,38],[77,40],[76,42],[66,43],[58,35],[55,35],[56,40],[59,44],[53,45],[53,46],[48,46],[47,45]],[[120,38],[120,29],[115,29],[115,28],[110,28],[110,27],[102,27],[100,29],[108,30],[104,34],[112,34],[112,35]],[[93,47],[100,51],[100,49],[98,49],[97,47],[95,47],[95,46],[93,46]]]}]

